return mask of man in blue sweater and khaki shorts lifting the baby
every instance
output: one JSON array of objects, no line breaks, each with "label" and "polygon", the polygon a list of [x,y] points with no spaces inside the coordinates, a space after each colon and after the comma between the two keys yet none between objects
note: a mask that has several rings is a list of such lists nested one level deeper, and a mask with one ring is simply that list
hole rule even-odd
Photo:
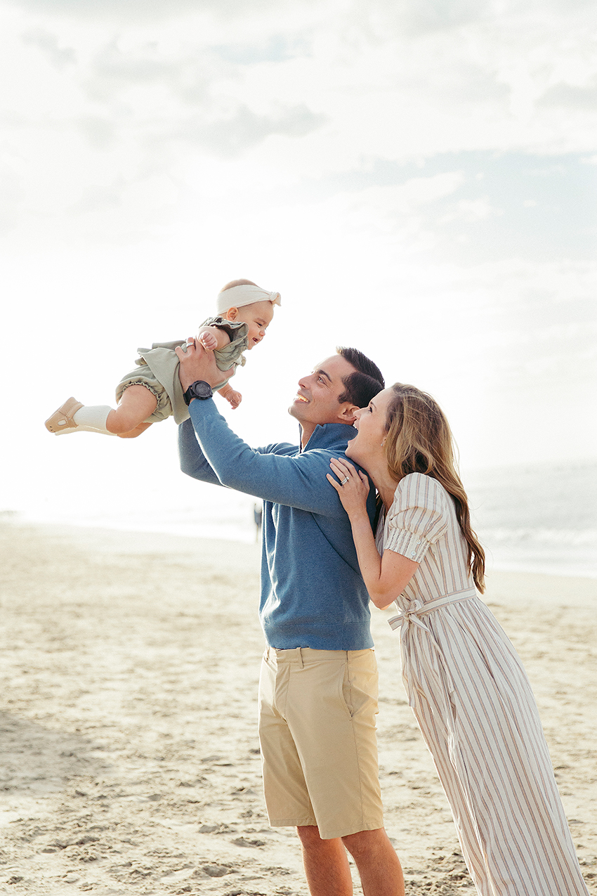
[{"label": "man in blue sweater and khaki shorts lifting the baby", "polygon": [[[211,401],[221,372],[209,355],[192,346],[177,354],[191,414],[179,427],[181,469],[264,501],[260,745],[269,823],[297,828],[311,896],[353,892],[345,849],[365,896],[403,896],[383,828],[369,595],[350,522],[326,480],[383,377],[361,352],[337,349],[299,380],[289,412],[300,446],[252,449]],[[372,518],[372,494],[369,510]]]}]

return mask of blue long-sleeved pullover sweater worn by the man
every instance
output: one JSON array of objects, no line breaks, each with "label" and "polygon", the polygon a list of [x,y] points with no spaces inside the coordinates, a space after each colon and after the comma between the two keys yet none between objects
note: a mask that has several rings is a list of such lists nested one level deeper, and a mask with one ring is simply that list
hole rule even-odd
[{"label": "blue long-sleeved pullover sweater worn by the man", "polygon": [[[260,620],[269,645],[372,647],[369,595],[350,521],[326,479],[330,459],[344,454],[353,427],[317,426],[304,451],[291,444],[250,448],[214,401],[192,401],[190,411],[178,429],[183,472],[263,498]],[[374,505],[371,489],[371,519]]]}]

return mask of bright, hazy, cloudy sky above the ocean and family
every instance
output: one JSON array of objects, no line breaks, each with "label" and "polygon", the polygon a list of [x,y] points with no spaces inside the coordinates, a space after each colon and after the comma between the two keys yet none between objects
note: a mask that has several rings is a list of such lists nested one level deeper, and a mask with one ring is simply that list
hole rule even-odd
[{"label": "bright, hazy, cloudy sky above the ocean and family", "polygon": [[112,403],[237,277],[282,295],[219,401],[251,444],[296,441],[298,378],[355,345],[439,400],[464,470],[597,457],[596,25],[593,0],[1,0],[0,509],[181,487],[172,421],[43,421]]}]

